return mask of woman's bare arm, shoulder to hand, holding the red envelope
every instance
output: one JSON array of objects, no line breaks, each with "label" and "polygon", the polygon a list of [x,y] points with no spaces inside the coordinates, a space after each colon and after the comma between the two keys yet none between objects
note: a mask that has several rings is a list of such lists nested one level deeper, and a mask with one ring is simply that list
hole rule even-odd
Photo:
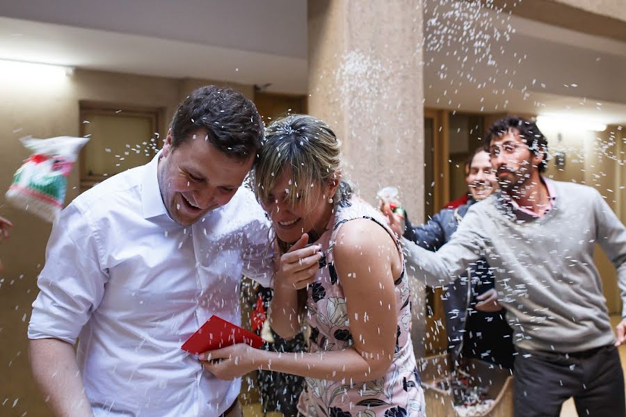
[{"label": "woman's bare arm, shoulder to hand, holding the red envelope", "polygon": [[353,220],[342,227],[334,251],[352,347],[332,352],[277,353],[234,345],[202,355],[201,359],[207,359],[204,368],[220,379],[233,379],[255,369],[345,382],[385,375],[396,342],[394,277],[402,270],[396,245],[387,231],[371,220]]}]

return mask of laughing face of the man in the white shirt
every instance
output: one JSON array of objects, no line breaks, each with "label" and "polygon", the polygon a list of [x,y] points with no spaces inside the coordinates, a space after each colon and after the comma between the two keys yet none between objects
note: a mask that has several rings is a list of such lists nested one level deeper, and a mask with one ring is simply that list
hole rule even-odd
[{"label": "laughing face of the man in the white shirt", "polygon": [[254,161],[254,156],[243,162],[228,157],[205,140],[206,136],[204,129],[198,129],[172,147],[168,132],[163,144],[158,171],[161,198],[170,217],[183,226],[230,202]]}]

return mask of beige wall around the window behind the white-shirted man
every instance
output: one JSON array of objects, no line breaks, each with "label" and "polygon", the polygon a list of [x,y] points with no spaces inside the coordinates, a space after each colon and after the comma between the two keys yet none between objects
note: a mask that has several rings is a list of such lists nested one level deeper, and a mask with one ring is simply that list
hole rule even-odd
[{"label": "beige wall around the window behind the white-shirted man", "polygon": [[[45,416],[45,406],[33,387],[27,354],[26,329],[31,304],[38,293],[36,277],[45,261],[50,225],[5,202],[3,193],[13,173],[29,156],[18,138],[78,136],[79,101],[106,101],[128,106],[163,108],[166,124],[178,102],[205,80],[177,80],[109,72],[77,70],[73,76],[54,80],[20,80],[19,74],[0,77],[0,215],[13,221],[10,240],[0,245],[5,271],[0,282],[0,393],[2,416]],[[216,83],[217,84],[217,83]],[[222,83],[223,84],[223,83]],[[252,98],[251,85],[231,85]],[[72,172],[66,202],[77,195],[77,169]],[[17,400],[15,407],[11,408]]]}]

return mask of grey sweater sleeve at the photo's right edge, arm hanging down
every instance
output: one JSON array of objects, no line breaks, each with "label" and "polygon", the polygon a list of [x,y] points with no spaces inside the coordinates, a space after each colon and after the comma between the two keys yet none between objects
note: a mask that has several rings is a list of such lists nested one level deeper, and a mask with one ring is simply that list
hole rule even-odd
[{"label": "grey sweater sleeve at the photo's right edge, arm hanging down", "polygon": [[622,318],[626,318],[626,228],[617,215],[613,213],[609,204],[604,201],[602,195],[597,190],[593,191],[595,194],[597,243],[600,244],[604,253],[615,265],[618,286],[622,295]]}]

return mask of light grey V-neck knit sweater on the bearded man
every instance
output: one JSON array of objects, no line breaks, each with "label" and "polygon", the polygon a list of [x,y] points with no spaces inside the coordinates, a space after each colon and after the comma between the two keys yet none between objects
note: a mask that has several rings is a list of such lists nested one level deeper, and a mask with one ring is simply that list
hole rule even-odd
[{"label": "light grey V-neck knit sweater on the bearded man", "polygon": [[[618,271],[626,299],[626,229],[595,189],[552,182],[551,211],[519,220],[500,193],[474,204],[438,252],[403,239],[408,272],[442,286],[484,254],[515,345],[526,350],[580,352],[613,343],[595,243]],[[613,288],[610,288],[612,291]],[[626,317],[626,300],[623,317]]]}]

